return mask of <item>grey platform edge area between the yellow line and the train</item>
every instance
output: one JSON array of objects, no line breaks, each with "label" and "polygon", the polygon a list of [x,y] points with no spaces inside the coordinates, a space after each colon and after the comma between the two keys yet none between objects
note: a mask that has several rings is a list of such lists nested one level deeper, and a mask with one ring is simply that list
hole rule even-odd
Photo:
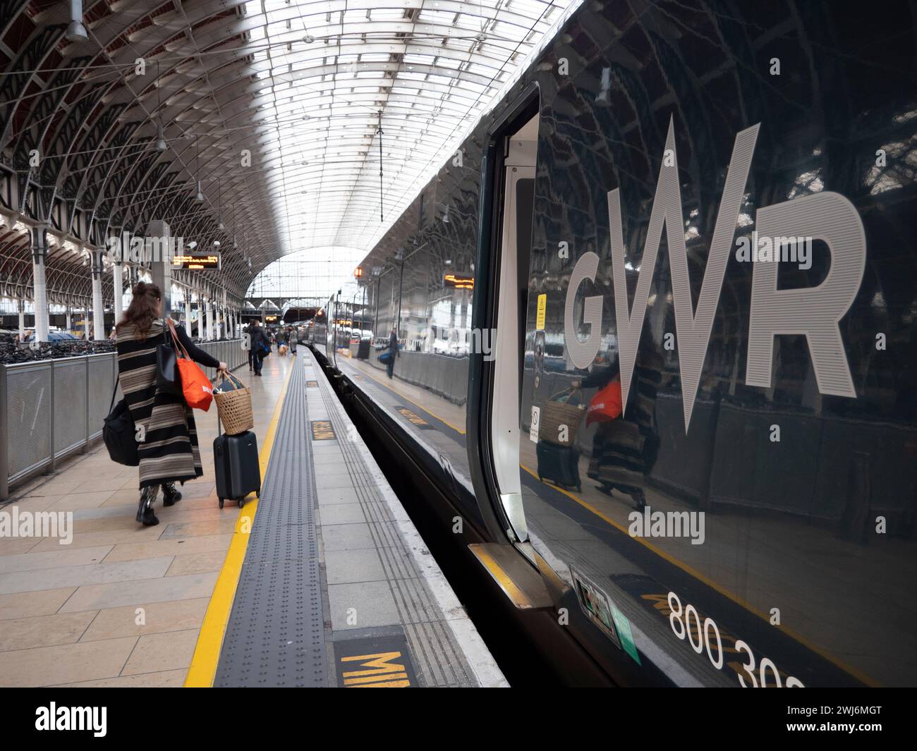
[{"label": "grey platform edge area between the yellow line and the train", "polygon": [[[217,623],[225,614],[218,609],[215,602]],[[208,680],[207,640],[218,628],[208,634],[207,627],[192,685]],[[324,372],[301,349],[214,685],[504,683]]]}]

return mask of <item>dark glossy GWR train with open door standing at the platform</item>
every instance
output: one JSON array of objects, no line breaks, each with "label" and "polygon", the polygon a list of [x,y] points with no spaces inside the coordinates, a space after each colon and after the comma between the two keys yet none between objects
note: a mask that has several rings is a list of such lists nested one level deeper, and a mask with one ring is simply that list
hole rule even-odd
[{"label": "dark glossy GWR train with open door standing at the platform", "polygon": [[913,683],[914,24],[583,3],[315,319],[584,682]]}]

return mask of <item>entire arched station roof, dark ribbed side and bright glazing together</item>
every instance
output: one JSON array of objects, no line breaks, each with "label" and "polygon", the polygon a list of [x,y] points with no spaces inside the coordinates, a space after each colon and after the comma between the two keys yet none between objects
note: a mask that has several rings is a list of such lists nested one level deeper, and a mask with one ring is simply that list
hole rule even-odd
[{"label": "entire arched station roof, dark ribbed side and bright glazing together", "polygon": [[[81,40],[68,3],[13,2],[0,167],[64,206],[50,299],[90,287],[79,215],[96,241],[153,219],[216,240],[221,271],[190,273],[239,296],[295,251],[359,261],[578,4],[84,0]],[[6,271],[26,275],[28,232],[7,219]]]}]

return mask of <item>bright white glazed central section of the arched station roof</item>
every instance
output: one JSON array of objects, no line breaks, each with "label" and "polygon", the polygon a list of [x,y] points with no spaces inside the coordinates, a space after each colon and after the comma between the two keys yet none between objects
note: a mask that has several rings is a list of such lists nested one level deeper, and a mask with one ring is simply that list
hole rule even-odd
[{"label": "bright white glazed central section of the arched station roof", "polygon": [[372,248],[574,5],[249,2],[285,249]]}]

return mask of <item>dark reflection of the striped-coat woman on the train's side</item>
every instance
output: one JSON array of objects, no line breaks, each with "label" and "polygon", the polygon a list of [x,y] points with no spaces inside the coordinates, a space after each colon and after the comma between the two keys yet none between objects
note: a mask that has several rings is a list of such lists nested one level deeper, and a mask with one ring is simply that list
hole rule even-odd
[{"label": "dark reflection of the striped-coat woman on the train's side", "polygon": [[[592,457],[587,475],[602,491],[613,489],[631,496],[638,510],[646,505],[646,476],[659,452],[656,423],[656,394],[661,381],[661,360],[656,355],[640,358],[631,381],[625,414],[599,423],[592,440]],[[618,358],[605,353],[591,366],[589,375],[573,381],[574,388],[602,392],[612,382],[620,382]]]}]

